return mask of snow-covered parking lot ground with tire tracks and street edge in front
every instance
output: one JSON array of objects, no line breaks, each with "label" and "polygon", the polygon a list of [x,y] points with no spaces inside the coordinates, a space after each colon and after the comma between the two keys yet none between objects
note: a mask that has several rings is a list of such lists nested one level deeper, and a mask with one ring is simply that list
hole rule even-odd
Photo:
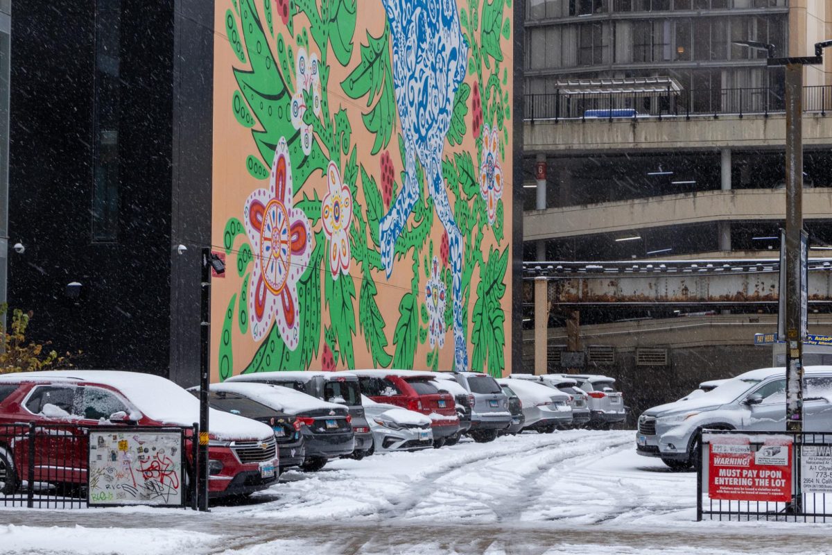
[{"label": "snow-covered parking lot ground with tire tracks and street edge in front", "polygon": [[830,526],[696,523],[696,474],[634,451],[632,432],[522,434],[285,473],[209,514],[0,512],[0,553],[832,553]]}]

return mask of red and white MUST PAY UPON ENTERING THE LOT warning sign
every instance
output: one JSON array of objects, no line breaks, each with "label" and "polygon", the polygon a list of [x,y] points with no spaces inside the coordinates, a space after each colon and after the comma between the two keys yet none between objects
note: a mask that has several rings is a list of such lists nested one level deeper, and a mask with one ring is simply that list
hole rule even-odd
[{"label": "red and white MUST PAY UPON ENTERING THE LOT warning sign", "polygon": [[732,501],[791,501],[792,440],[771,437],[757,451],[747,435],[711,436],[708,495]]}]

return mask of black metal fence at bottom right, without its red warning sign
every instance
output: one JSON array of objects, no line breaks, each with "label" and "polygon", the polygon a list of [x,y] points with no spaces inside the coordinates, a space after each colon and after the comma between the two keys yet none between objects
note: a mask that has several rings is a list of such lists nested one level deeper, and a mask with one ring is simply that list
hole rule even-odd
[{"label": "black metal fence at bottom right, without its red warning sign", "polygon": [[[766,440],[785,437],[792,442],[790,501],[712,499],[709,494],[711,442],[716,437],[748,436],[750,453],[765,448]],[[696,520],[764,520],[805,523],[832,522],[832,433],[749,432],[700,430],[699,464],[696,468]],[[806,464],[804,464],[804,460]],[[814,465],[812,463],[815,463]],[[765,467],[763,467],[765,468]],[[806,485],[810,483],[811,485]],[[806,491],[810,490],[810,491]],[[824,490],[828,490],[826,493]]]}]

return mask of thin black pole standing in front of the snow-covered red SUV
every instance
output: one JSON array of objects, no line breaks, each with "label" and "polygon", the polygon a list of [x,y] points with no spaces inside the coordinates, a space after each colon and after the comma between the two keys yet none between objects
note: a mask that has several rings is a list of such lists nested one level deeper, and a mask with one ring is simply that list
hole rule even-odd
[{"label": "thin black pole standing in front of the snow-covered red SUV", "polygon": [[200,457],[199,457],[199,505],[208,510],[208,388],[210,365],[210,248],[202,249],[202,276],[200,280]]}]

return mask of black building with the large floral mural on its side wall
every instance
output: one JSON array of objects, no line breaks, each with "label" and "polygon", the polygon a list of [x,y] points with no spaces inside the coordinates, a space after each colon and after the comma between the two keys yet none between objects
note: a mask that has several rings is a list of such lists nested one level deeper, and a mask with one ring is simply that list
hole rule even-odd
[{"label": "black building with the large floral mural on its side wall", "polygon": [[78,364],[193,383],[210,246],[226,264],[211,286],[215,380],[508,372],[519,13],[513,0],[13,9],[9,238],[25,250],[10,255],[10,302],[34,311],[32,337],[81,349]]}]

